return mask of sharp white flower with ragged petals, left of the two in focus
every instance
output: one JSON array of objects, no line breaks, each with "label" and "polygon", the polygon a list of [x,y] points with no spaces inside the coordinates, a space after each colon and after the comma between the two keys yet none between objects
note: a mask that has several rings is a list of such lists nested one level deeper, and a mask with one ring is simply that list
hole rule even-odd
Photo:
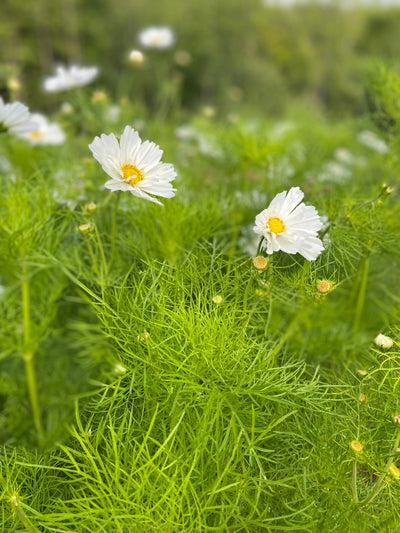
[{"label": "sharp white flower with ragged petals, left of the two in focus", "polygon": [[173,165],[162,163],[163,151],[154,143],[142,143],[139,134],[126,126],[120,141],[113,133],[95,137],[89,148],[103,170],[111,176],[105,187],[111,191],[129,191],[138,198],[162,205],[150,195],[172,198],[171,185],[176,172]]}]

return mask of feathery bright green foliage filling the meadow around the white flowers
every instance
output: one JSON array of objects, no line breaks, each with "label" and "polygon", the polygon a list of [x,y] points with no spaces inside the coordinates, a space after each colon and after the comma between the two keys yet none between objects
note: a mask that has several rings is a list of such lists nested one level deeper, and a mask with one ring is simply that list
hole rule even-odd
[{"label": "feathery bright green foliage filling the meadow around the white flowers", "polygon": [[[149,119],[160,207],[102,188],[87,145],[122,122],[63,120],[64,146],[1,147],[2,531],[397,531],[396,138]],[[295,185],[326,249],[258,271],[254,217]]]}]

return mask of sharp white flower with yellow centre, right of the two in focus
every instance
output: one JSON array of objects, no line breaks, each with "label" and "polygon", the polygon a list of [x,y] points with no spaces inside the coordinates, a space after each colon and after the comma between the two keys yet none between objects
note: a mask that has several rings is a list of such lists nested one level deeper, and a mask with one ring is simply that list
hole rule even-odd
[{"label": "sharp white flower with yellow centre, right of the two in focus", "polygon": [[253,230],[264,237],[267,254],[282,250],[314,261],[324,249],[317,236],[321,217],[315,207],[301,202],[303,197],[299,187],[292,187],[289,192],[277,194],[269,207],[256,216]]}]

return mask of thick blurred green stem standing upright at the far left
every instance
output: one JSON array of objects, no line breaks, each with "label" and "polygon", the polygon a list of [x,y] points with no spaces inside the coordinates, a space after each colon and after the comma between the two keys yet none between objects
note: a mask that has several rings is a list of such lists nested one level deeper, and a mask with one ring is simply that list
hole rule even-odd
[{"label": "thick blurred green stem standing upright at the far left", "polygon": [[29,295],[29,281],[26,271],[24,272],[24,279],[22,281],[22,309],[24,319],[24,363],[25,374],[28,382],[29,399],[35,422],[36,430],[38,432],[39,440],[43,439],[43,424],[42,416],[39,407],[39,399],[36,386],[36,375],[34,365],[34,351],[31,347],[31,316],[30,316],[30,295]]}]

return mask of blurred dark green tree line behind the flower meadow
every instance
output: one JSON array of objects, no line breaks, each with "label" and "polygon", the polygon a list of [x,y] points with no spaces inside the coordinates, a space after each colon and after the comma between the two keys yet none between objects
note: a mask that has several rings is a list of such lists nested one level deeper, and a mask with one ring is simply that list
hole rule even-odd
[{"label": "blurred dark green tree line behind the flower meadow", "polygon": [[[128,54],[139,48],[138,32],[148,25],[170,26],[176,43],[149,51],[135,67]],[[41,89],[54,65],[78,62],[100,66],[96,87],[113,98],[137,98],[149,106],[162,90],[188,108],[245,105],[279,114],[289,102],[305,101],[336,115],[357,114],[367,105],[364,78],[371,59],[390,63],[400,57],[400,8],[2,0],[0,35],[1,86],[19,80],[16,96],[33,108],[49,109],[57,101]],[[181,51],[190,56],[179,56]]]}]

